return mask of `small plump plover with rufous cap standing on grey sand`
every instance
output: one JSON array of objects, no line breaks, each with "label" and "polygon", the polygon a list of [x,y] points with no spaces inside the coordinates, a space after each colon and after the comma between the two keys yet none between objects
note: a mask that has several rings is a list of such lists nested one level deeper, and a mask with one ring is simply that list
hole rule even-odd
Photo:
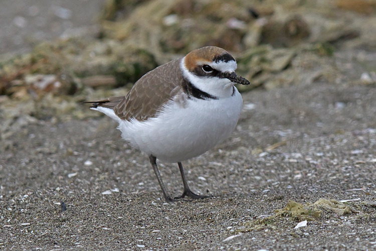
[{"label": "small plump plover with rufous cap standing on grey sand", "polygon": [[[125,96],[89,103],[117,121],[121,137],[149,156],[167,201],[206,198],[191,191],[181,162],[207,152],[234,131],[243,105],[234,84],[249,84],[236,68],[226,50],[203,47],[149,71]],[[169,196],[156,159],[177,162],[181,196]]]}]

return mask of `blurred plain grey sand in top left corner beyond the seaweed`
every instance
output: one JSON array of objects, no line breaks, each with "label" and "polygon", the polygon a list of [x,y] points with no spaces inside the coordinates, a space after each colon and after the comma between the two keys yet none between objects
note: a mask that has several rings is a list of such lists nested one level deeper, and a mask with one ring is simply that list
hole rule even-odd
[{"label": "blurred plain grey sand in top left corner beyond the seaweed", "polygon": [[33,45],[95,29],[104,0],[3,1],[0,54],[30,51]]}]

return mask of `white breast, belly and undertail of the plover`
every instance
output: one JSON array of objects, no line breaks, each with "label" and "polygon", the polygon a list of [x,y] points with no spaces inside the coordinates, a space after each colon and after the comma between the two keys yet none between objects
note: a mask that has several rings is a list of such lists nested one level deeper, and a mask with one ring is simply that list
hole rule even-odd
[{"label": "white breast, belly and undertail of the plover", "polygon": [[[117,119],[118,129],[124,140],[142,152],[164,162],[181,162],[227,139],[236,127],[242,105],[238,90],[217,100],[187,99],[185,107],[171,102],[157,117],[146,121]],[[108,108],[98,110],[114,115],[112,110],[113,114],[108,114]]]}]

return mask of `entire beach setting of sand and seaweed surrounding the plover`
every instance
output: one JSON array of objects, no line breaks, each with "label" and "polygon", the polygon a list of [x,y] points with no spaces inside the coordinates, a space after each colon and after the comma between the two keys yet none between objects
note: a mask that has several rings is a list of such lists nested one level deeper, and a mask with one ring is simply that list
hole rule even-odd
[{"label": "entire beach setting of sand and seaweed surrounding the plover", "polygon": [[[214,197],[165,204],[81,102],[207,45],[251,85],[231,138],[183,164]],[[0,249],[375,250],[374,87],[376,0],[3,0]]]}]

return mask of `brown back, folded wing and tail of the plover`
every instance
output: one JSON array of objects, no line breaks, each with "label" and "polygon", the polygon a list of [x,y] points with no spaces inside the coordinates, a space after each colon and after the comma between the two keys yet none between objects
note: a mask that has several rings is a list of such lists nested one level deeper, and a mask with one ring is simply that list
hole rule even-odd
[{"label": "brown back, folded wing and tail of the plover", "polygon": [[93,107],[111,108],[121,119],[146,120],[161,110],[163,104],[182,92],[180,59],[173,60],[143,75],[126,96],[92,102]]}]

